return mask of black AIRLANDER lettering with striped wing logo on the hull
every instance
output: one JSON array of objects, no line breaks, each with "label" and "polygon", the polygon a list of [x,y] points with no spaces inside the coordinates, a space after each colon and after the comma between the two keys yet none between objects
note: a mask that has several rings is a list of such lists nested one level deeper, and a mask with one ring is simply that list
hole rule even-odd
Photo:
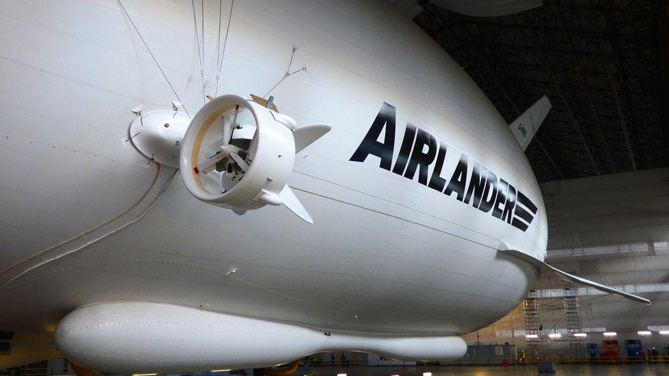
[{"label": "black AIRLANDER lettering with striped wing logo on the hull", "polygon": [[[481,163],[468,158],[465,153],[441,140],[437,142],[435,136],[410,123],[406,124],[402,145],[393,165],[395,123],[395,107],[384,102],[350,161],[365,162],[368,155],[376,155],[381,159],[380,168],[411,180],[418,173],[420,184],[449,197],[455,194],[455,199],[471,204],[472,208],[482,212],[491,212],[495,218],[522,231],[526,231],[532,224],[537,214],[537,205],[520,190],[497,177]],[[454,160],[458,155],[459,160]],[[432,164],[434,168],[428,177],[428,168]],[[469,164],[473,164],[473,167],[468,168]],[[446,170],[445,166],[452,168]],[[447,171],[452,171],[450,179],[443,177],[448,176]]]}]

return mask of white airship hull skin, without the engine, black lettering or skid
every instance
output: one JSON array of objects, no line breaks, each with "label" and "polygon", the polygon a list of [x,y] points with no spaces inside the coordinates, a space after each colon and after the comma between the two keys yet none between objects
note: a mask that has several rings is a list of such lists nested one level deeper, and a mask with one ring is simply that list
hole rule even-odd
[{"label": "white airship hull skin, without the engine, black lettering or skid", "polygon": [[[203,99],[191,2],[123,3],[194,115]],[[229,5],[205,2],[207,94]],[[545,258],[544,205],[524,153],[461,67],[387,3],[234,4],[218,94],[264,95],[295,45],[291,71],[307,70],[283,79],[274,103],[298,125],[332,125],[297,153],[288,182],[313,225],[282,207],[238,216],[208,205],[168,167],[171,184],[158,179],[157,201],[142,201],[158,167],[129,140],[131,110],[169,110],[176,98],[116,1],[7,3],[0,18],[0,329],[49,331],[82,305],[150,301],[452,336],[501,318],[535,281],[530,264],[498,252],[503,240]],[[375,155],[351,160],[383,103],[396,109],[393,166],[411,123],[448,145],[447,181],[465,154],[468,175],[479,163],[528,197],[528,227],[421,184],[420,168],[411,179]]]}]

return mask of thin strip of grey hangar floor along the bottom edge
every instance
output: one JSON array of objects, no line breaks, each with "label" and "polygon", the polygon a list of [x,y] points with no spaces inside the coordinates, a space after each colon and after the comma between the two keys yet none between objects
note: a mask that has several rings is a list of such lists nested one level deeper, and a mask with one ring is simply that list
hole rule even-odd
[{"label": "thin strip of grey hangar floor along the bottom edge", "polygon": [[[446,375],[537,375],[537,368],[527,366],[374,366],[350,368],[298,368],[295,375],[304,376],[422,376],[430,372],[433,376]],[[547,375],[550,375],[547,374]],[[556,364],[552,375],[583,376],[627,376],[669,375],[669,364]]]}]

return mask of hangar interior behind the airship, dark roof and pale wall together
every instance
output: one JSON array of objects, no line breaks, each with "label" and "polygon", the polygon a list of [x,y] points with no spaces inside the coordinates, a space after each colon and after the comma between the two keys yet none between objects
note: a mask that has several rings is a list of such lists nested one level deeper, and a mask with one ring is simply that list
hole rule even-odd
[{"label": "hangar interior behind the airship, dark roof and pale wall together", "polygon": [[[528,299],[465,335],[467,344],[515,345],[513,362],[520,349],[531,361],[581,362],[607,360],[603,341],[617,340],[616,358],[645,361],[626,349],[640,340],[644,353],[655,348],[669,362],[669,5],[550,0],[481,17],[436,0],[390,2],[462,66],[508,123],[548,96],[552,110],[526,150],[548,214],[546,262],[653,301],[646,307],[542,275]],[[498,362],[469,360],[456,364]],[[62,361],[24,370],[71,372]]]}]

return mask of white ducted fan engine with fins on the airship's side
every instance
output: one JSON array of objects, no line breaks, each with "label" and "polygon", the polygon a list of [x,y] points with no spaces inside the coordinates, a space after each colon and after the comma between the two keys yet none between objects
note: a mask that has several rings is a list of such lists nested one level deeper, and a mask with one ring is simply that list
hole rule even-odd
[{"label": "white ducted fan engine with fins on the airship's side", "polygon": [[237,214],[284,204],[313,223],[287,182],[295,153],[330,129],[297,127],[289,116],[239,95],[217,97],[195,114],[184,135],[184,183],[197,199]]}]

